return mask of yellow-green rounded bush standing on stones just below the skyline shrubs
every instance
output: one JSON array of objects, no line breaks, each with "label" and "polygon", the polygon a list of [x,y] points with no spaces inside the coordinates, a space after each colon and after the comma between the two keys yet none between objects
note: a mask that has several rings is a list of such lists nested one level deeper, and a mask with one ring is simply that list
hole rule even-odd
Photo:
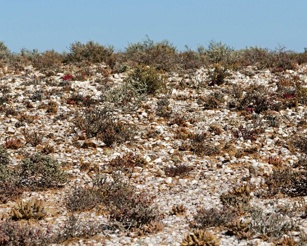
[{"label": "yellow-green rounded bush standing on stones just below the skyline shrubs", "polygon": [[146,66],[135,67],[125,78],[125,82],[131,84],[138,93],[155,94],[165,87],[166,79],[155,68]]}]

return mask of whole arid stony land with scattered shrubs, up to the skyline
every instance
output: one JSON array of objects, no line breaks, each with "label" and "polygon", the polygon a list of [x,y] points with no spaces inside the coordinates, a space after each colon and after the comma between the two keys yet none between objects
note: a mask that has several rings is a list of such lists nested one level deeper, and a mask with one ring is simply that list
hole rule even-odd
[{"label": "whole arid stony land with scattered shrubs, up to the skyline", "polygon": [[0,245],[307,245],[306,54],[95,45],[0,55]]}]

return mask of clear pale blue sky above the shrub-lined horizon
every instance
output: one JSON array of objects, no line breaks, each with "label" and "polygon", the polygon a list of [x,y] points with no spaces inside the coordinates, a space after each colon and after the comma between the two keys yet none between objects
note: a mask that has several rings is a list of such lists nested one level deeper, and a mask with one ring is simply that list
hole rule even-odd
[{"label": "clear pale blue sky above the shrub-lined horizon", "polygon": [[168,39],[179,50],[211,40],[236,49],[307,47],[307,0],[0,0],[0,40],[14,52],[67,50],[74,41]]}]

